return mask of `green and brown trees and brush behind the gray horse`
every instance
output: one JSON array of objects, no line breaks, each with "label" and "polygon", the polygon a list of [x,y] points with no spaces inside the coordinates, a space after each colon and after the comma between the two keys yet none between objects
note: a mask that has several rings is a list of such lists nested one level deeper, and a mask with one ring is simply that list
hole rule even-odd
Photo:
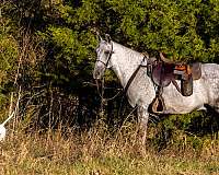
[{"label": "green and brown trees and brush behind the gray horse", "polygon": [[[170,59],[219,62],[218,28],[218,0],[2,0],[0,117],[5,118],[13,93],[21,95],[22,125],[31,128],[87,127],[96,119],[103,106],[92,85],[94,31],[151,56],[162,50]],[[112,73],[106,85],[119,86]],[[104,106],[111,122],[118,98]],[[201,115],[182,117],[180,127]]]}]

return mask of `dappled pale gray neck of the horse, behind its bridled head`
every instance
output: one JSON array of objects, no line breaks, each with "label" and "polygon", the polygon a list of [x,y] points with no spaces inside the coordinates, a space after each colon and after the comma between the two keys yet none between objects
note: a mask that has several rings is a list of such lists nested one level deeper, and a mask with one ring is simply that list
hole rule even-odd
[{"label": "dappled pale gray neck of the horse, behind its bridled head", "polygon": [[125,88],[130,77],[141,63],[143,56],[119,44],[114,43],[114,54],[112,55],[113,70]]}]

